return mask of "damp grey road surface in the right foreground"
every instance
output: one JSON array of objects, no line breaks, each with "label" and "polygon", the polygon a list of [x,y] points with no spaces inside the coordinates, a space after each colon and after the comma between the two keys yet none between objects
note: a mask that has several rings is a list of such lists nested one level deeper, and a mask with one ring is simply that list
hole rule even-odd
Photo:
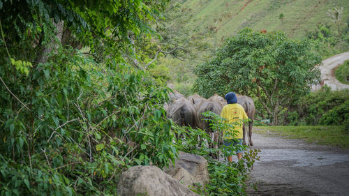
[{"label": "damp grey road surface in the right foreground", "polygon": [[349,149],[253,133],[261,150],[248,195],[349,195]]}]

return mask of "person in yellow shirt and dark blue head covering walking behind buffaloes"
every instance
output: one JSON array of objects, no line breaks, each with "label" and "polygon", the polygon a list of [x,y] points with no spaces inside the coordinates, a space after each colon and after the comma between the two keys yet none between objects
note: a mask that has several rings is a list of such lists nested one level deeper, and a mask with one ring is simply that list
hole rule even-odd
[{"label": "person in yellow shirt and dark blue head covering walking behind buffaloes", "polygon": [[[225,146],[230,146],[237,144],[242,146],[242,139],[244,134],[242,131],[242,119],[248,119],[244,108],[237,103],[237,96],[235,93],[227,93],[225,95],[225,100],[227,100],[227,105],[223,107],[221,112],[221,117],[225,119],[226,123],[233,123],[234,130],[224,130],[223,131],[223,144]],[[240,160],[242,158],[242,149],[237,147],[237,158]],[[232,156],[228,156],[229,162],[232,162]]]}]

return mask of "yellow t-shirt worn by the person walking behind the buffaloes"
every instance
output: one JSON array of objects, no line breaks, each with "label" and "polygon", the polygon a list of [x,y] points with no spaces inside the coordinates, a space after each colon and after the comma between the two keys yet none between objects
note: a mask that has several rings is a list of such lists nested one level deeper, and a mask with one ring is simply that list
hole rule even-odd
[{"label": "yellow t-shirt worn by the person walking behind the buffaloes", "polygon": [[[221,112],[221,117],[224,119],[227,119],[228,120],[227,123],[233,123],[233,122],[241,120],[241,119],[248,119],[248,116],[246,115],[244,108],[237,103],[225,105],[223,107],[222,112]],[[239,123],[239,125],[235,125],[234,128],[235,128],[235,130],[237,130],[237,137],[236,138],[242,139],[244,137],[243,131],[242,131],[242,123]],[[224,132],[225,131],[232,132],[232,130],[224,130]],[[224,132],[223,132],[224,139],[232,140],[234,138],[232,136],[233,134],[226,135]]]}]

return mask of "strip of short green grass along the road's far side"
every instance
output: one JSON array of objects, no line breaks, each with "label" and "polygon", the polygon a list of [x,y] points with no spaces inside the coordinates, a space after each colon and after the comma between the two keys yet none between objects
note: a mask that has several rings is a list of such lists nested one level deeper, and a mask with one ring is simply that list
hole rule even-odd
[{"label": "strip of short green grass along the road's far side", "polygon": [[262,135],[280,135],[314,144],[349,149],[349,134],[343,133],[341,126],[254,126],[254,128],[255,133]]}]

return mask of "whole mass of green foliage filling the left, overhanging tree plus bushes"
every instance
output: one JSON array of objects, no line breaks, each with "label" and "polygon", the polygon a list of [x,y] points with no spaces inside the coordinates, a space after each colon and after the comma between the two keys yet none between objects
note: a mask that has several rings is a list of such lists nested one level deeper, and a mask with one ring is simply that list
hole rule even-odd
[{"label": "whole mass of green foliage filling the left, overhanging tree plus bushes", "polygon": [[174,160],[168,91],[123,59],[164,3],[0,1],[0,195],[115,195]]}]

